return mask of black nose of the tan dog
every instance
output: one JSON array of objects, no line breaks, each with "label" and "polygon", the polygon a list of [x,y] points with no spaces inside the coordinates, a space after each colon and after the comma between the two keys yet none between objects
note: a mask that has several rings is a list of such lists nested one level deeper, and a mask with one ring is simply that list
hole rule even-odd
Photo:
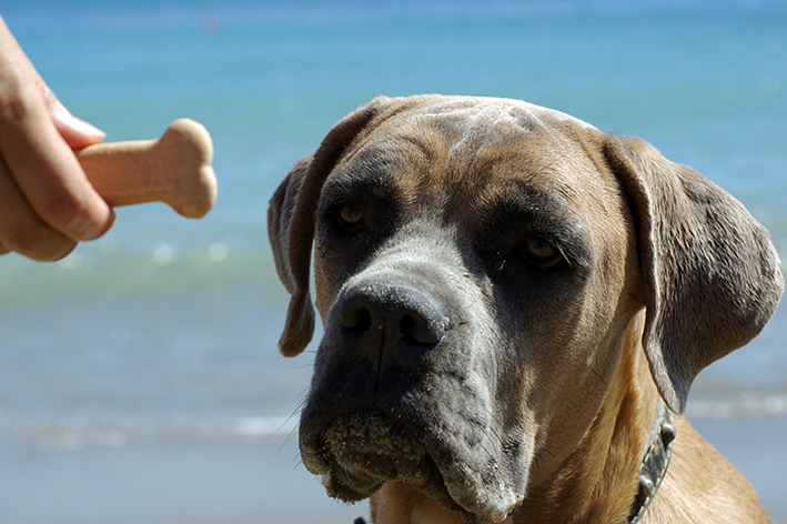
[{"label": "black nose of the tan dog", "polygon": [[351,350],[413,359],[440,343],[448,330],[442,302],[403,284],[366,283],[340,303],[336,322]]}]

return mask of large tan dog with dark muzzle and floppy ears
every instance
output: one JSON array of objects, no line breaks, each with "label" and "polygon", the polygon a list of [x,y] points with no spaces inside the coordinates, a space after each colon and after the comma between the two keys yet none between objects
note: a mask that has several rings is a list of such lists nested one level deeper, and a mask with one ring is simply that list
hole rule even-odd
[{"label": "large tan dog with dark muzzle and floppy ears", "polygon": [[295,164],[269,231],[287,356],[314,241],[303,462],[375,523],[770,522],[659,401],[683,412],[784,284],[689,168],[525,102],[379,98]]}]

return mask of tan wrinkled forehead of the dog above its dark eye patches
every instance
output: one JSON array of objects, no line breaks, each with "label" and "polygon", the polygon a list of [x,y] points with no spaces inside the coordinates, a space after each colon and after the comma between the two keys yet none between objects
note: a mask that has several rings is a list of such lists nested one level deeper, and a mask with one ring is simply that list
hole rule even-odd
[{"label": "tan wrinkled forehead of the dog above its dark eye patches", "polygon": [[[595,167],[573,129],[595,129],[559,111],[493,98],[447,97],[398,112],[359,140],[329,179],[397,187],[402,202],[474,206],[517,180],[572,204],[594,193]],[[587,190],[587,191],[586,191]],[[437,199],[436,201],[434,199]],[[443,199],[443,200],[441,200]],[[472,200],[468,200],[472,199]]]}]

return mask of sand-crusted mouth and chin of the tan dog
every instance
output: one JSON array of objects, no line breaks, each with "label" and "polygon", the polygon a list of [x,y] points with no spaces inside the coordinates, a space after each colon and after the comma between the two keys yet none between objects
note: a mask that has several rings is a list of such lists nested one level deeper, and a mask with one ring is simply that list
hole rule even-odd
[{"label": "sand-crusted mouth and chin of the tan dog", "polygon": [[[302,445],[303,462],[317,475],[329,495],[345,502],[356,502],[377,492],[387,482],[405,482],[440,503],[448,511],[463,514],[463,521],[495,522],[507,514],[514,501],[503,501],[478,486],[473,475],[455,471],[444,476],[441,467],[421,443],[408,436],[382,412],[363,410],[342,415],[323,429],[312,441]],[[444,467],[444,468],[445,468]],[[467,491],[472,490],[472,504]],[[460,493],[464,503],[452,496]],[[487,502],[485,504],[484,502]]]}]

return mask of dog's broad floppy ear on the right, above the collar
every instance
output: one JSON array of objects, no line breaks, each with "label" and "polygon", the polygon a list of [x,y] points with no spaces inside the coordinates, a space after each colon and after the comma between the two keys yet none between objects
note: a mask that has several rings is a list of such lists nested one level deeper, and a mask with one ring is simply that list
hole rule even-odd
[{"label": "dog's broad floppy ear on the right, above the collar", "polygon": [[697,373],[756,336],[784,286],[767,231],[705,177],[637,139],[604,135],[634,206],[645,282],[643,345],[669,407]]}]

